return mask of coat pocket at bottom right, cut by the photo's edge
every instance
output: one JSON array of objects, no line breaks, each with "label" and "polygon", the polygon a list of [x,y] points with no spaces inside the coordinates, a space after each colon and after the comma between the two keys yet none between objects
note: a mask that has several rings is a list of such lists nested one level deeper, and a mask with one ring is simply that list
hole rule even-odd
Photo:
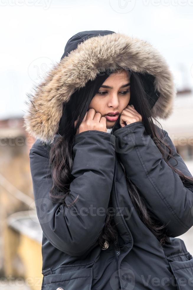
[{"label": "coat pocket at bottom right, cut by the photo's edge", "polygon": [[178,290],[193,290],[193,257],[189,252],[166,256]]}]

